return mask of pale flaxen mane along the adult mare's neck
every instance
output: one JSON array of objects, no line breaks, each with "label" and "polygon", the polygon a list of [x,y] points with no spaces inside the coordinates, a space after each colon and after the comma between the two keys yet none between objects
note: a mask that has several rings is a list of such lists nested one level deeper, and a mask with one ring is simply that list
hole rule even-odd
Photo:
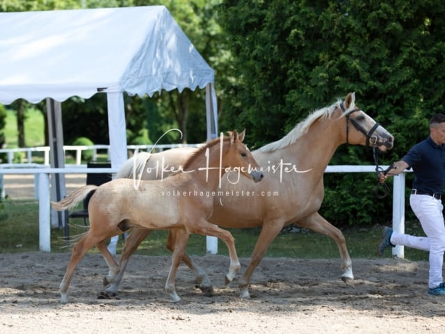
[{"label": "pale flaxen mane along the adult mare's neck", "polygon": [[[312,123],[318,120],[318,118],[321,118],[321,120],[325,120],[326,118],[331,118],[332,113],[334,113],[334,110],[337,108],[341,108],[342,103],[343,102],[339,99],[337,100],[337,102],[332,104],[332,106],[325,106],[322,109],[318,109],[316,111],[313,111],[312,113],[309,113],[309,116],[307,116],[305,120],[299,122],[296,125],[296,127],[291,129],[291,131],[289,131],[288,134],[286,134],[283,138],[277,141],[273,141],[272,143],[268,143],[263,147],[259,148],[259,150],[261,152],[273,152],[276,150],[280,150],[280,148],[285,148],[286,146],[295,143],[298,140],[298,138],[300,138],[303,134],[306,134],[308,132],[309,127],[311,127]],[[348,113],[354,109],[354,105],[355,105],[355,99],[353,99],[348,110],[346,110],[341,114],[340,118],[348,115]]]}]

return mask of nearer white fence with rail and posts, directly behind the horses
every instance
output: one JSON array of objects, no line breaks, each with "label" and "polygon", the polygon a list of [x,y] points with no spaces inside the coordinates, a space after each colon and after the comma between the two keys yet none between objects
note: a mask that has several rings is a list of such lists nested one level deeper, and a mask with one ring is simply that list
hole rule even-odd
[{"label": "nearer white fence with rail and posts, directly behind the horses", "polygon": [[[1,165],[0,165],[1,167]],[[387,168],[388,166],[381,166]],[[38,177],[38,200],[39,200],[39,245],[42,252],[51,251],[51,221],[49,207],[49,174],[86,174],[86,173],[116,173],[113,168],[0,168],[0,175],[3,174],[33,174]],[[375,173],[375,166],[327,166],[326,173]],[[405,173],[394,176],[393,185],[393,217],[392,225],[396,232],[405,232]],[[207,237],[207,251],[218,253],[218,243],[215,237]],[[215,248],[216,247],[216,248]],[[404,247],[393,248],[393,255],[405,257]]]}]

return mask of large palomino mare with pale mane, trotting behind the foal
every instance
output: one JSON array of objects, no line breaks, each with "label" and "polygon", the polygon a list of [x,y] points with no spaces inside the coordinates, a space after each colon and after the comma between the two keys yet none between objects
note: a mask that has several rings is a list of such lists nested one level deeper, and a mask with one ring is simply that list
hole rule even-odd
[{"label": "large palomino mare with pale mane, trotting behind the foal", "polygon": [[[335,150],[343,143],[372,145],[385,151],[392,148],[393,142],[394,137],[359,109],[355,105],[355,94],[349,93],[344,102],[337,101],[332,106],[314,111],[279,141],[252,152],[267,175],[263,182],[229,182],[227,179],[232,178],[230,173],[223,177],[221,191],[214,198],[213,214],[209,221],[223,228],[261,227],[248,268],[239,280],[241,297],[250,296],[248,285],[255,267],[284,225],[291,223],[332,238],[341,256],[341,278],[345,282],[353,280],[352,262],[343,233],[318,214],[324,196],[323,173]],[[132,177],[133,170],[140,170],[139,166],[133,167],[134,162],[149,166],[138,177],[154,178],[154,170],[158,170],[154,166],[159,166],[159,161],[167,161],[164,164],[166,167],[181,166],[186,159],[184,152],[183,150],[179,154],[178,150],[168,150],[151,156],[148,154],[148,160],[147,154],[139,154],[137,159],[129,159],[118,175]],[[299,173],[305,170],[309,171]],[[273,196],[274,192],[278,192],[278,196]],[[108,294],[118,292],[129,257],[149,232],[133,229],[129,234],[120,256],[121,271],[106,288]],[[167,246],[172,251],[177,232],[178,230],[170,230],[169,233]],[[211,291],[204,271],[188,255],[184,254],[183,260],[195,272],[197,280],[204,280],[207,292]]]}]

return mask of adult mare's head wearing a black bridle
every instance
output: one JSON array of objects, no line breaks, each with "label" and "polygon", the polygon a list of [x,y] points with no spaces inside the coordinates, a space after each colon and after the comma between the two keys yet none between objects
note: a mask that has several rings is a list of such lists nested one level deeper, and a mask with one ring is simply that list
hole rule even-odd
[{"label": "adult mare's head wearing a black bridle", "polygon": [[391,150],[394,136],[355,105],[355,93],[349,93],[344,102],[338,102],[338,107],[346,118],[346,143]]}]

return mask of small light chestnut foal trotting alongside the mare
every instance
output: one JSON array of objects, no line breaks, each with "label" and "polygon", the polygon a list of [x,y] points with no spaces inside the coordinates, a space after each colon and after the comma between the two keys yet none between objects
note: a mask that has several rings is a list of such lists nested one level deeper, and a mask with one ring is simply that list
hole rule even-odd
[{"label": "small light chestnut foal trotting alongside the mare", "polygon": [[[212,235],[222,239],[229,248],[230,264],[227,280],[232,280],[241,267],[236,255],[232,234],[209,223],[207,218],[213,209],[213,198],[221,176],[229,170],[243,174],[258,182],[263,174],[248,148],[242,143],[244,132],[209,141],[186,161],[177,173],[163,180],[140,181],[115,179],[102,186],[87,185],[73,191],[60,202],[52,202],[54,209],[74,207],[88,193],[95,191],[88,205],[90,229],[82,234],[73,247],[70,262],[62,283],[60,295],[67,302],[67,290],[76,264],[86,252],[97,246],[104,256],[111,273],[119,267],[108,252],[106,240],[133,227],[143,229],[180,228],[181,237],[172,257],[168,284],[165,289],[173,301],[179,301],[174,282],[176,268],[186,248],[188,233]],[[175,259],[179,259],[175,263]]]}]

